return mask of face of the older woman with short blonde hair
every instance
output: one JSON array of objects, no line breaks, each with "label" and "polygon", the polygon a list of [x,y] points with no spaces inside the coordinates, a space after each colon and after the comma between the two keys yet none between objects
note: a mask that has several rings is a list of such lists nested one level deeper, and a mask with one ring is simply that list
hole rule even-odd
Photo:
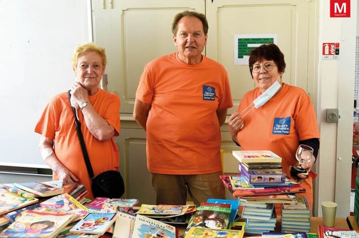
[{"label": "face of the older woman with short blonde hair", "polygon": [[77,58],[74,72],[76,81],[81,83],[87,90],[90,90],[98,87],[105,69],[102,66],[101,57],[96,52],[89,51]]}]

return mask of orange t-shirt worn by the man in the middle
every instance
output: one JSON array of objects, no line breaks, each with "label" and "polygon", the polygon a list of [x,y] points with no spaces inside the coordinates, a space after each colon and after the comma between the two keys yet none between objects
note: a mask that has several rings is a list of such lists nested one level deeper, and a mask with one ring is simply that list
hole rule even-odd
[{"label": "orange t-shirt worn by the man in the middle", "polygon": [[217,109],[233,106],[227,71],[203,56],[195,65],[159,57],[144,69],[136,98],[151,103],[147,167],[157,174],[222,171]]}]

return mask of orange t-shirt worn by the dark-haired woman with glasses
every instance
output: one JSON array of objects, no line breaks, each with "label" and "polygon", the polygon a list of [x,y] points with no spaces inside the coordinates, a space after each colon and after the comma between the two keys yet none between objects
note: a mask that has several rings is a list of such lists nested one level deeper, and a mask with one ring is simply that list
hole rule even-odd
[{"label": "orange t-shirt worn by the dark-haired woman with glasses", "polygon": [[[261,95],[256,88],[244,95],[238,112],[242,112],[252,101]],[[283,83],[282,89],[267,103],[253,109],[244,118],[244,127],[237,134],[238,143],[243,150],[271,150],[282,157],[283,171],[290,177],[289,166],[297,165],[295,152],[299,141],[320,138],[313,104],[307,93],[296,86]],[[301,184],[313,207],[312,179]]]}]

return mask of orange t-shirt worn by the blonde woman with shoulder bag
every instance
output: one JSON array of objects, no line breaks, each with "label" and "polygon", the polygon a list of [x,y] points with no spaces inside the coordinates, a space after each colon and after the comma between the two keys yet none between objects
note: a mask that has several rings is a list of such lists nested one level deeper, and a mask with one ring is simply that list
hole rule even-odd
[{"label": "orange t-shirt worn by the blonde woman with shoulder bag", "polygon": [[[104,118],[119,135],[119,106],[117,95],[98,89],[98,92],[89,96],[89,101],[96,112]],[[114,139],[108,141],[97,140],[88,130],[84,115],[77,110],[81,122],[81,131],[89,155],[94,175],[97,176],[107,170],[118,170],[119,153]],[[68,168],[89,191],[87,198],[93,199],[91,180],[88,175],[81,145],[76,133],[74,115],[66,93],[56,95],[47,104],[41,118],[36,124],[35,132],[54,140],[54,152],[57,159]],[[53,180],[57,180],[53,174]]]}]

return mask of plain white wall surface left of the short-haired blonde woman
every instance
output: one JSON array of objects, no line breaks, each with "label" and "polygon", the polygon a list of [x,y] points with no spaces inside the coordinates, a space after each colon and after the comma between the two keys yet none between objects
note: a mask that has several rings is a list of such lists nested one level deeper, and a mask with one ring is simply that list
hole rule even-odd
[{"label": "plain white wall surface left of the short-haired blonde woman", "polygon": [[87,0],[0,1],[0,165],[47,167],[37,120],[69,89],[75,46],[92,37]]}]

